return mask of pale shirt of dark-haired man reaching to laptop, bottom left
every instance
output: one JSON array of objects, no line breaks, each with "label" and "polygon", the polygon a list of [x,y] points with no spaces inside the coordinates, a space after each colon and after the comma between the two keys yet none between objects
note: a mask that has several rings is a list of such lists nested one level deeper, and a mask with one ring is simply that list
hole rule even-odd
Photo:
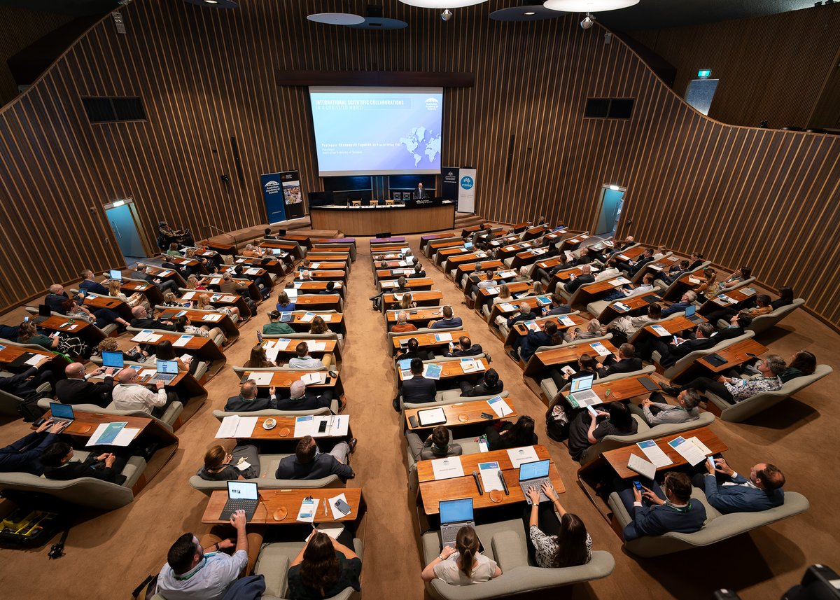
[{"label": "pale shirt of dark-haired man reaching to laptop, bottom left", "polygon": [[247,564],[248,553],[244,550],[237,550],[233,556],[223,552],[207,556],[179,576],[166,563],[158,576],[158,592],[166,600],[221,600]]}]

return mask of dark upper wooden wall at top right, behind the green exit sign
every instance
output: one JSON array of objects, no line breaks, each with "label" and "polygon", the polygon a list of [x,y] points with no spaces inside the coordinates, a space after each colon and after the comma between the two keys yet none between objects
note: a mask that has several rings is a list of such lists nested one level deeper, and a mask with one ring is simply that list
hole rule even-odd
[{"label": "dark upper wooden wall at top right, behind the green exit sign", "polygon": [[[680,96],[700,69],[720,79],[709,116],[755,127],[833,127],[813,120],[826,77],[837,71],[840,4],[765,17],[637,31],[631,35],[677,69]],[[836,107],[835,107],[836,108]]]}]

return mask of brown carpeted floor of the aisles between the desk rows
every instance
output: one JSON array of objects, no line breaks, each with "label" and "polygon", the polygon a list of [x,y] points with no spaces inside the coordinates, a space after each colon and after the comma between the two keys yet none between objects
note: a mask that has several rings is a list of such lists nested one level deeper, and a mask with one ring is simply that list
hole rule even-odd
[{"label": "brown carpeted floor of the aisles between the desk rows", "polygon": [[[419,236],[411,236],[417,253]],[[344,349],[341,378],[349,400],[348,413],[359,447],[353,457],[357,478],[351,487],[363,487],[369,509],[365,539],[363,595],[366,598],[424,596],[417,550],[417,534],[407,502],[402,427],[391,410],[395,383],[391,358],[386,351],[385,324],[381,313],[370,310],[368,297],[374,291],[370,251],[366,239],[357,239],[359,259],[349,278],[345,319],[349,335]],[[780,466],[787,488],[803,492],[811,510],[711,548],[691,550],[654,560],[640,560],[622,551],[621,540],[612,532],[576,483],[578,465],[564,445],[544,434],[543,404],[522,382],[522,371],[501,348],[478,316],[460,303],[461,292],[423,257],[428,276],[444,292],[464,318],[474,342],[493,356],[507,389],[522,413],[538,422],[540,443],[549,447],[566,492],[561,502],[578,513],[589,529],[596,550],[609,550],[617,566],[606,579],[550,592],[563,598],[679,598],[706,600],[718,587],[737,590],[741,597],[768,600],[780,597],[799,581],[811,563],[823,562],[840,569],[840,517],[836,512],[840,478],[834,438],[840,430],[833,393],[837,376],[829,376],[800,394],[753,418],[748,424],[717,421],[712,429],[727,443],[727,459],[740,472],[756,462]],[[255,331],[267,321],[268,306],[245,324],[239,341],[226,352],[228,365],[241,365],[255,341]],[[20,311],[3,318],[14,323]],[[840,368],[837,351],[840,336],[815,318],[799,311],[780,328],[760,339],[775,352],[788,356],[795,350],[811,350],[821,362]],[[144,576],[157,572],[166,550],[185,531],[200,531],[205,497],[187,484],[196,471],[207,445],[213,443],[218,421],[211,414],[234,395],[238,382],[233,371],[223,370],[207,385],[207,403],[179,432],[180,448],[172,460],[139,494],[133,504],[110,513],[90,513],[71,530],[66,556],[49,561],[49,546],[32,551],[0,550],[0,590],[7,600],[62,597],[68,600],[126,598]],[[7,445],[28,432],[17,420],[0,426],[0,445]],[[540,597],[546,597],[541,594]],[[536,595],[534,595],[536,597]]]}]

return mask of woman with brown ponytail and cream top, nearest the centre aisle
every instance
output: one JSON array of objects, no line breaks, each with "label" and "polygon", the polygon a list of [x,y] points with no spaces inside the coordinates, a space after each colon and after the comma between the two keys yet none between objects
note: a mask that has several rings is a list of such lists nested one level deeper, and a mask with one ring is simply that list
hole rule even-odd
[{"label": "woman with brown ponytail and cream top, nearest the centre aisle", "polygon": [[469,586],[473,583],[489,582],[501,575],[496,561],[491,561],[479,551],[479,539],[475,529],[469,525],[458,530],[455,547],[446,546],[421,577],[424,582],[440,579],[453,586]]}]

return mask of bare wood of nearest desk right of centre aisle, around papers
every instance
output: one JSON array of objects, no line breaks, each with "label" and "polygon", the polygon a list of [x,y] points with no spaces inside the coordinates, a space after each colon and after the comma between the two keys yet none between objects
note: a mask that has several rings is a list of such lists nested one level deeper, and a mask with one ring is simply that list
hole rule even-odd
[{"label": "bare wood of nearest desk right of centre aisle, around papers", "polygon": [[[537,456],[540,460],[551,458],[548,450],[543,446],[537,445],[534,446],[534,449],[537,451]],[[443,479],[438,482],[433,481],[431,461],[417,462],[417,474],[421,475],[423,473],[420,477],[420,496],[423,498],[423,510],[426,514],[438,514],[438,506],[441,500],[454,500],[463,497],[472,497],[474,508],[489,508],[502,504],[525,502],[525,494],[522,493],[522,487],[519,486],[519,469],[513,468],[510,457],[507,455],[507,450],[493,450],[490,452],[480,452],[479,454],[461,455],[457,458],[460,458],[461,464],[464,466],[464,476]],[[475,487],[475,479],[472,476],[472,471],[478,471],[478,463],[480,462],[499,463],[499,467],[507,483],[507,490],[510,492],[508,496],[503,495],[504,492],[502,492],[501,502],[499,503],[494,503],[490,499],[490,493],[488,492],[480,495]],[[566,491],[557,467],[554,466],[554,461],[549,466],[549,477],[557,493]]]}]

